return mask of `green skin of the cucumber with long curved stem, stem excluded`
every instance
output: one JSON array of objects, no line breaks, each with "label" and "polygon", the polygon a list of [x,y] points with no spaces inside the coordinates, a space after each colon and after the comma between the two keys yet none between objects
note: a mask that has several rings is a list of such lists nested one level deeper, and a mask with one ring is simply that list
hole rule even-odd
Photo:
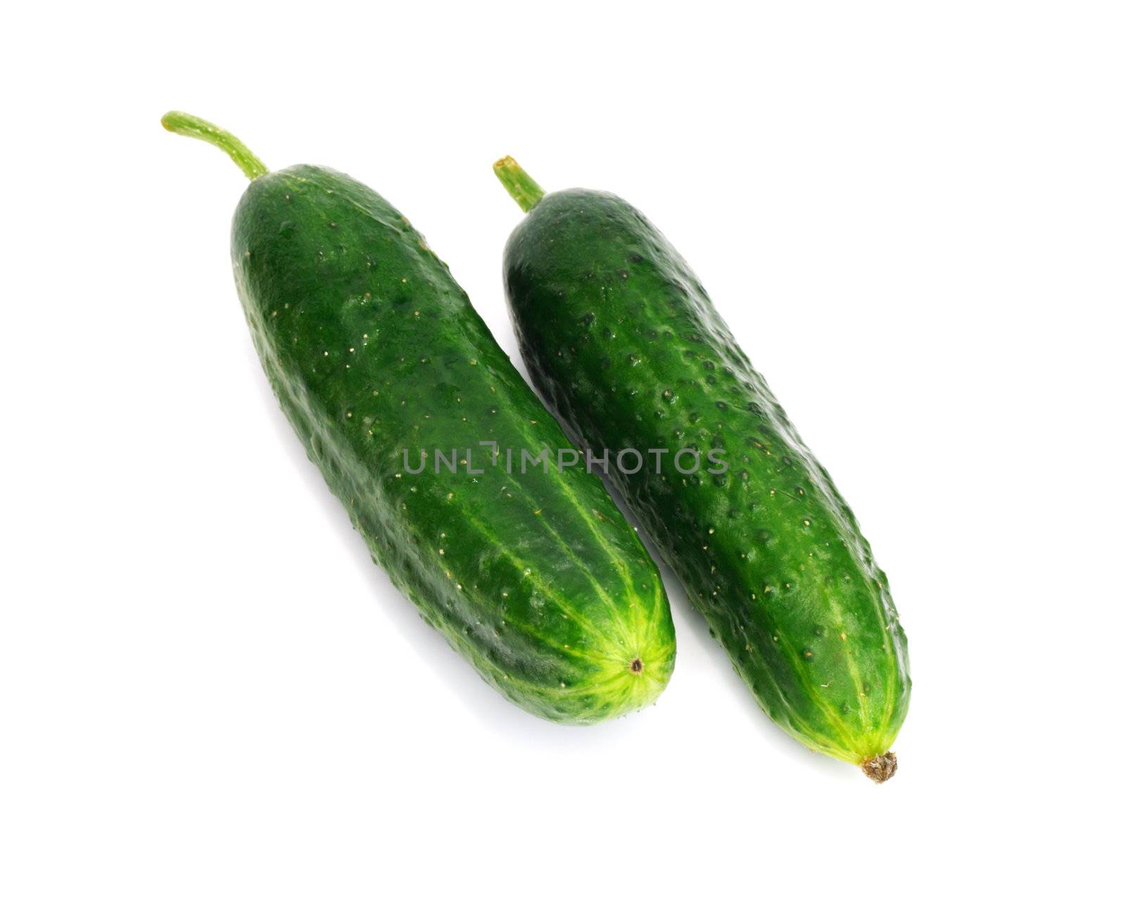
[{"label": "green skin of the cucumber with long curved stem, stem excluded", "polygon": [[[283,410],[422,618],[543,718],[653,701],[676,650],[656,567],[596,477],[489,465],[481,441],[570,443],[408,221],[342,174],[296,166],[250,184],[231,250]],[[403,448],[414,467],[435,447],[473,447],[485,472],[404,472]]]}]

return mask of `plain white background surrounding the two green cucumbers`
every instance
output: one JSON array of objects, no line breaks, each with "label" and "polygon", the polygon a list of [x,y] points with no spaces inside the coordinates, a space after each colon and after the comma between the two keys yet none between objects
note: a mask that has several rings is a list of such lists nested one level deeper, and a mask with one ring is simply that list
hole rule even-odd
[{"label": "plain white background surrounding the two green cucumbers", "polygon": [[[1120,5],[6,16],[6,915],[1120,905]],[[492,161],[651,216],[891,577],[899,775],[781,735],[668,576],[655,707],[485,686],[289,432],[245,181],[168,108],[377,188],[513,357]]]}]

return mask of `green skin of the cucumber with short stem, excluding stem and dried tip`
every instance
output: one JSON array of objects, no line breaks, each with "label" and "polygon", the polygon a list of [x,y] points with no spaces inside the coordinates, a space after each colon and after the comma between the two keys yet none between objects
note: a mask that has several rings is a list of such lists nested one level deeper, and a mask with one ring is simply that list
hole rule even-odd
[{"label": "green skin of the cucumber with short stem, excluding stem and dried tip", "polygon": [[573,441],[726,451],[724,474],[658,474],[649,456],[609,476],[763,710],[830,756],[887,750],[911,690],[887,578],[680,255],[619,197],[564,190],[512,232],[504,281]]}]

